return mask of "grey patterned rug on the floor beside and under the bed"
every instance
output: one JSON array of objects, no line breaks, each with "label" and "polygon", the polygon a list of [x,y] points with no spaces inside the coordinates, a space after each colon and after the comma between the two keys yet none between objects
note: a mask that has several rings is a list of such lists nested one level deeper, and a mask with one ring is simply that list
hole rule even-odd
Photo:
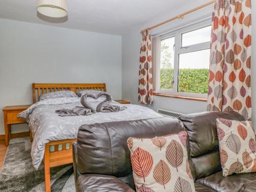
[{"label": "grey patterned rug on the floor beside and under the bed", "polygon": [[[11,139],[0,174],[0,191],[45,191],[45,173],[42,163],[38,170],[32,165],[29,137]],[[73,165],[51,168],[51,190],[75,191]]]}]

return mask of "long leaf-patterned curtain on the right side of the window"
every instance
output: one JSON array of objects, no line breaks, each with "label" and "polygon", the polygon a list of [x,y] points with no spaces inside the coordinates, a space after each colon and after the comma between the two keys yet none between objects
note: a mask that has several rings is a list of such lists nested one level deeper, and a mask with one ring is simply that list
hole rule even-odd
[{"label": "long leaf-patterned curtain on the right side of the window", "polygon": [[207,111],[251,118],[251,1],[217,0],[212,13]]}]

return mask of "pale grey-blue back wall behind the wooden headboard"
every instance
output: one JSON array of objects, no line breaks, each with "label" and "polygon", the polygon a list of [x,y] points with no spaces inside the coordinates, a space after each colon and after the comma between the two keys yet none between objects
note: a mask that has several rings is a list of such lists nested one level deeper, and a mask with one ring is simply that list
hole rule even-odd
[{"label": "pale grey-blue back wall behind the wooden headboard", "polygon": [[[121,36],[0,19],[2,109],[32,103],[32,83],[106,83],[121,99]],[[28,131],[15,125],[13,133]]]}]

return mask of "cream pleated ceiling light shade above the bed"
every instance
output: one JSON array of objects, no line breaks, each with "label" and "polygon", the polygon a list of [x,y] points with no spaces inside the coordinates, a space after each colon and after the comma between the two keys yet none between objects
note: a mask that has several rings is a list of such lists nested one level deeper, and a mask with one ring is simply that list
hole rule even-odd
[{"label": "cream pleated ceiling light shade above the bed", "polygon": [[37,0],[37,11],[49,17],[68,15],[67,0]]}]

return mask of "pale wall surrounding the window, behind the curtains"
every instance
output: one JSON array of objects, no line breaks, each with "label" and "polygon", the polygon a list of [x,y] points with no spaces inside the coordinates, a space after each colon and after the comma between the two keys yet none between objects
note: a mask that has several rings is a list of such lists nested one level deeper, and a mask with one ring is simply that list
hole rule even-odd
[{"label": "pale wall surrounding the window, behind the curtains", "polygon": [[[178,14],[181,14],[185,11],[188,11],[192,8],[195,8],[199,5],[202,5],[203,3],[208,2],[208,0],[200,0],[195,1],[193,4],[185,5],[184,7],[177,9],[177,10],[170,10],[170,14],[165,16],[160,16],[159,18],[156,18],[151,23],[145,24],[144,26],[140,26],[137,29],[132,29],[131,31],[127,32],[122,36],[122,97],[123,99],[130,100],[132,103],[137,102],[137,92],[138,92],[138,70],[139,70],[139,50],[140,50],[140,30],[145,29],[147,27],[153,26],[155,24],[158,24],[162,22],[163,20],[166,20],[170,17],[177,16]],[[253,10],[256,10],[256,1],[252,1]],[[256,83],[256,67],[253,66],[253,64],[256,61],[256,14],[253,14],[253,50],[252,50],[252,89],[253,84]],[[191,13],[188,16],[185,16],[184,19],[175,20],[174,22],[170,22],[168,24],[165,24],[161,27],[158,27],[154,30],[152,30],[152,34],[161,34],[162,32],[166,32],[172,29],[176,29],[179,26],[182,26],[184,24],[188,24],[190,22],[194,22],[198,20],[198,18],[204,18],[207,16],[210,16],[212,13],[212,6],[208,6],[204,9],[201,9],[197,12]],[[254,77],[254,78],[253,78]],[[256,98],[253,90],[253,105],[256,106]],[[154,97],[154,103],[152,105],[148,105],[148,107],[152,108],[153,110],[157,109],[165,109],[165,110],[171,110],[176,111],[179,113],[197,113],[197,112],[203,112],[206,111],[206,102],[202,101],[192,101],[192,100],[185,100],[185,99],[177,99],[177,98],[166,98],[166,97]],[[255,112],[255,110],[254,110]],[[255,113],[253,113],[255,114]],[[253,120],[255,121],[256,118],[253,116]]]}]

